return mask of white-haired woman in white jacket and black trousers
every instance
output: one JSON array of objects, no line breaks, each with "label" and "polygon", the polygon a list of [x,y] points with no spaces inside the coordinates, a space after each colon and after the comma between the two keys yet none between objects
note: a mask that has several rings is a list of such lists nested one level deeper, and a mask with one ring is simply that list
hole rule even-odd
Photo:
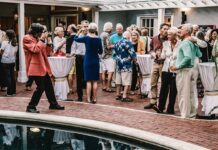
[{"label": "white-haired woman in white jacket and black trousers", "polygon": [[176,101],[177,89],[176,89],[176,73],[170,71],[170,67],[176,63],[176,56],[180,41],[177,40],[178,29],[171,27],[168,30],[168,41],[163,43],[163,50],[161,58],[165,59],[161,76],[161,89],[159,96],[158,106],[154,109],[158,113],[162,113],[165,109],[166,100],[169,94],[169,103],[167,107],[167,113],[174,114],[174,104]]}]

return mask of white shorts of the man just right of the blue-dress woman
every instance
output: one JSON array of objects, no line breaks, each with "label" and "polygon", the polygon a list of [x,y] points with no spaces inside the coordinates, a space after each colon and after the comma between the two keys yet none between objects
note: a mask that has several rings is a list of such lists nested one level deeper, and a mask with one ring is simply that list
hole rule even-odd
[{"label": "white shorts of the man just right of the blue-dress woman", "polygon": [[115,71],[115,61],[113,58],[102,59],[102,71],[114,72]]}]

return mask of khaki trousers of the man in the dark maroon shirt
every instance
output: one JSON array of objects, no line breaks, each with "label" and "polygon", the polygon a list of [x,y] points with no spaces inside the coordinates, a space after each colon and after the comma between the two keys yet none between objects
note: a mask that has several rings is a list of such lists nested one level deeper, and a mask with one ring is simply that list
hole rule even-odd
[{"label": "khaki trousers of the man in the dark maroon shirt", "polygon": [[151,104],[157,103],[157,85],[159,77],[161,76],[163,64],[154,63],[151,73]]}]

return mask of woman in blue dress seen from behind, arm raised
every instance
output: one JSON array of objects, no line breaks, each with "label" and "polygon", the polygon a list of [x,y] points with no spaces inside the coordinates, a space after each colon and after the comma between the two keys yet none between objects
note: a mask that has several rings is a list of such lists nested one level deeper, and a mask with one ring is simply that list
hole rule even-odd
[{"label": "woman in blue dress seen from behind, arm raised", "polygon": [[[102,54],[102,42],[96,35],[97,25],[90,23],[88,27],[89,34],[83,37],[75,37],[75,41],[85,43],[86,53],[84,58],[84,80],[86,81],[86,93],[88,102],[97,102],[97,81],[99,80],[99,56]],[[79,30],[78,34],[82,32]],[[91,91],[93,90],[93,97],[91,98]]]}]

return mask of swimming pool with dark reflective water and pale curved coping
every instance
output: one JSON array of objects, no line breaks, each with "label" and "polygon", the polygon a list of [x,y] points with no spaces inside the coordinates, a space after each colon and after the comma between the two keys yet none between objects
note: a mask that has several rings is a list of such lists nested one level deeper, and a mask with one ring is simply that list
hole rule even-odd
[{"label": "swimming pool with dark reflective water and pale curved coping", "polygon": [[88,119],[0,110],[0,121],[0,146],[6,149],[206,150],[150,132]]}]

